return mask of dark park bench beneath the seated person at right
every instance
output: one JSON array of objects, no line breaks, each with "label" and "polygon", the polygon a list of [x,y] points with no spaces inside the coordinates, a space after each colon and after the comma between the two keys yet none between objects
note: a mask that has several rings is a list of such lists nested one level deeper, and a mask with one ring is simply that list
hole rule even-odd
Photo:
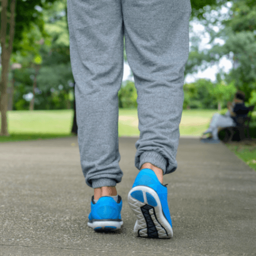
[{"label": "dark park bench beneath the seated person at right", "polygon": [[[249,106],[248,108],[249,108],[249,111],[246,117],[238,117],[237,126],[218,128],[218,135],[220,134],[221,131],[225,132],[225,137],[222,139],[224,143],[228,143],[232,141],[233,136],[235,135],[236,132],[238,133],[239,140],[251,139],[250,133],[249,133],[249,123],[252,120],[252,112],[253,112],[254,106]],[[247,134],[245,133],[245,130],[247,130]]]}]

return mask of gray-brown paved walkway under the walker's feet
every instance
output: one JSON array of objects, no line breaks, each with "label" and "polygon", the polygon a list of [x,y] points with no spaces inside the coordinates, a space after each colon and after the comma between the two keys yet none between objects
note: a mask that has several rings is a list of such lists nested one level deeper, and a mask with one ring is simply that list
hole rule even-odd
[{"label": "gray-brown paved walkway under the walker's feet", "polygon": [[139,238],[127,202],[137,138],[119,138],[122,229],[87,226],[93,190],[77,138],[0,143],[0,255],[256,255],[256,172],[224,144],[181,138],[164,177],[172,239]]}]

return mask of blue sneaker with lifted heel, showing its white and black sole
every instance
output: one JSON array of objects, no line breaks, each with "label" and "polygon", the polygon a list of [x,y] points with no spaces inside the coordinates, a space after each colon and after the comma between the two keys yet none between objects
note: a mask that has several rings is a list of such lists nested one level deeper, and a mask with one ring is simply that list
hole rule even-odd
[{"label": "blue sneaker with lifted heel, showing its white and black sole", "polygon": [[137,217],[133,231],[138,236],[173,236],[167,187],[161,184],[154,171],[145,168],[139,172],[128,194],[128,203]]}]

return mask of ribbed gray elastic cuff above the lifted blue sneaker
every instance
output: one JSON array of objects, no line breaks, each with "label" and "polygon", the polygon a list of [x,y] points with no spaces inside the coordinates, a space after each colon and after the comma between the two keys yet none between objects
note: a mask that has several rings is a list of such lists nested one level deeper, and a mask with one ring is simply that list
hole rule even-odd
[{"label": "ribbed gray elastic cuff above the lifted blue sneaker", "polygon": [[143,164],[145,164],[146,162],[150,162],[151,165],[154,165],[162,169],[165,175],[167,160],[165,159],[164,156],[160,155],[155,151],[145,151],[140,155],[139,159],[140,159],[139,170]]}]

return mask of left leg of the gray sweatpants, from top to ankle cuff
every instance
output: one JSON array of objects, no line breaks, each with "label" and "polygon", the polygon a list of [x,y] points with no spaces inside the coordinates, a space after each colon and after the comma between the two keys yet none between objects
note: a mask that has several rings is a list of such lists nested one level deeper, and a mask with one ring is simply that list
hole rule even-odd
[{"label": "left leg of the gray sweatpants, from top to ankle cuff", "polygon": [[123,78],[123,19],[116,0],[68,0],[70,60],[78,142],[86,184],[121,182],[118,90]]}]

